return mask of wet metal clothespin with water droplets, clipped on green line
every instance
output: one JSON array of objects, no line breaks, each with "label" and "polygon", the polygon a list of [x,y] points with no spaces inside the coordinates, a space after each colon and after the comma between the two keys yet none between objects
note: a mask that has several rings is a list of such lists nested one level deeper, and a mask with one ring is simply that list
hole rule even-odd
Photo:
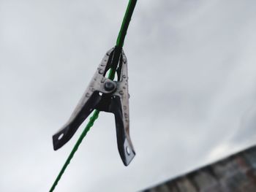
[{"label": "wet metal clothespin with water droplets, clipped on green line", "polygon": [[[105,77],[110,68],[116,69],[117,81]],[[118,151],[124,165],[127,166],[135,156],[129,137],[128,100],[127,58],[122,49],[114,47],[102,59],[89,87],[67,123],[53,135],[54,150],[58,150],[71,139],[93,110],[112,112],[116,120]]]}]

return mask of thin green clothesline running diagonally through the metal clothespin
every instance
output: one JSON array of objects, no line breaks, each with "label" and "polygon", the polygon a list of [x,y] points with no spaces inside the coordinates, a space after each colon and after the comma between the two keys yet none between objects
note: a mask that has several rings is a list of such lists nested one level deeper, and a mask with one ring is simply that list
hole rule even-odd
[{"label": "thin green clothesline running diagonally through the metal clothespin", "polygon": [[[137,2],[137,0],[129,0],[129,4],[127,6],[127,11],[125,12],[123,23],[121,25],[121,29],[118,34],[118,38],[116,40],[116,47],[122,48],[124,45],[124,38],[127,34],[129,21],[132,18],[132,12],[135,9],[136,2]],[[111,68],[109,71],[109,74],[108,74],[108,78],[110,80],[113,80],[115,77],[115,73],[116,73],[116,69]],[[94,113],[91,116],[88,124],[86,125],[86,128],[83,129],[82,134],[80,135],[78,141],[75,143],[75,146],[73,147],[71,153],[69,154],[64,166],[62,166],[61,171],[59,172],[58,176],[56,177],[56,180],[54,181],[52,187],[50,188],[50,192],[53,192],[54,189],[56,188],[56,186],[58,185],[59,180],[61,180],[62,174],[64,174],[65,170],[67,169],[67,166],[69,165],[70,161],[72,160],[73,156],[75,155],[75,152],[78,150],[78,147],[81,144],[81,142],[83,141],[83,138],[86,137],[86,134],[88,133],[90,128],[92,126],[94,126],[94,122],[95,122],[95,120],[97,120],[98,117],[99,117],[99,111],[94,110]]]}]

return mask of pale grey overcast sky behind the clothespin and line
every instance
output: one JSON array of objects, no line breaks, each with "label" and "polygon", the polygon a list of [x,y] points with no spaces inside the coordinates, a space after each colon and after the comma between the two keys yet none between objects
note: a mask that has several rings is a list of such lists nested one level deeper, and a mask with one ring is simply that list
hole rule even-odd
[{"label": "pale grey overcast sky behind the clothespin and line", "polygon": [[[0,191],[50,189],[86,122],[67,122],[128,1],[0,0]],[[56,191],[139,191],[255,144],[256,1],[139,0],[124,51],[125,167],[112,114],[100,113]]]}]

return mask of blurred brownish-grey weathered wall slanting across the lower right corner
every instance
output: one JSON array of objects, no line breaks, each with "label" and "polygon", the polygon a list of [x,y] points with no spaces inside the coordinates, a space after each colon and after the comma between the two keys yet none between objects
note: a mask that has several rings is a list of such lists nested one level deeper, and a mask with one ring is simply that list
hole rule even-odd
[{"label": "blurred brownish-grey weathered wall slanting across the lower right corner", "polygon": [[143,192],[255,192],[256,146]]}]

